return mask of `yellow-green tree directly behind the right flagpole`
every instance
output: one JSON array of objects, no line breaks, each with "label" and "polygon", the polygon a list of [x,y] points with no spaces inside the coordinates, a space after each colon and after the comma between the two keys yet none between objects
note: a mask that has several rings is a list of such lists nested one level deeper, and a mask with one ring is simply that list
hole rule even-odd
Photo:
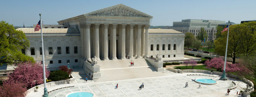
[{"label": "yellow-green tree directly behind the right flagpole", "polygon": [[[233,63],[235,63],[235,58],[241,54],[241,50],[239,47],[239,35],[238,32],[241,30],[241,27],[238,27],[238,24],[231,25],[229,28],[229,37],[228,37],[228,51],[227,57],[231,57],[233,59]],[[214,51],[219,53],[221,56],[225,56],[226,43],[227,43],[227,34],[228,31],[223,32],[221,35],[223,37],[219,37],[215,42]]]}]

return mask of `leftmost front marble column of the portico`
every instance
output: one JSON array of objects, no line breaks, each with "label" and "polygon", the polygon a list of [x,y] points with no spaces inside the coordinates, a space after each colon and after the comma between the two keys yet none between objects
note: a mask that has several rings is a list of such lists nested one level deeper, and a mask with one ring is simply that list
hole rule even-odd
[{"label": "leftmost front marble column of the portico", "polygon": [[86,29],[86,60],[91,60],[91,47],[90,47],[90,26],[91,24],[85,24]]}]

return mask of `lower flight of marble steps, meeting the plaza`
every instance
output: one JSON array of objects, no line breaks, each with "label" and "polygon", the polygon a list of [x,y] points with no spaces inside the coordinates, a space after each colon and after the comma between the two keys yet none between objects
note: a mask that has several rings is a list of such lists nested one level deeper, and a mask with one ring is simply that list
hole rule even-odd
[{"label": "lower flight of marble steps, meeting the plaza", "polygon": [[157,72],[153,66],[131,67],[120,69],[101,70],[101,77],[95,82],[121,80],[121,79],[135,79],[143,77],[165,76],[164,73]]}]

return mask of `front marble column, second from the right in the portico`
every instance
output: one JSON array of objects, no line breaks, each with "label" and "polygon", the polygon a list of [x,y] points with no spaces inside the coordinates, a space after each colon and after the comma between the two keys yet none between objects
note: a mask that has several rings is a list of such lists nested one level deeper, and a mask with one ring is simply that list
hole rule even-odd
[{"label": "front marble column, second from the right in the portico", "polygon": [[141,26],[138,24],[138,33],[137,33],[137,59],[141,58]]}]

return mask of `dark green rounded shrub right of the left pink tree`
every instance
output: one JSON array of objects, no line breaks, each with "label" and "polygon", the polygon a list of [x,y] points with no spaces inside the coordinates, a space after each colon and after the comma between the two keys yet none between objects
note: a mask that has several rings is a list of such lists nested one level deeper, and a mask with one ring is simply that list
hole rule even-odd
[{"label": "dark green rounded shrub right of the left pink tree", "polygon": [[69,78],[69,74],[62,70],[55,70],[50,73],[49,79],[52,81],[65,80]]}]

